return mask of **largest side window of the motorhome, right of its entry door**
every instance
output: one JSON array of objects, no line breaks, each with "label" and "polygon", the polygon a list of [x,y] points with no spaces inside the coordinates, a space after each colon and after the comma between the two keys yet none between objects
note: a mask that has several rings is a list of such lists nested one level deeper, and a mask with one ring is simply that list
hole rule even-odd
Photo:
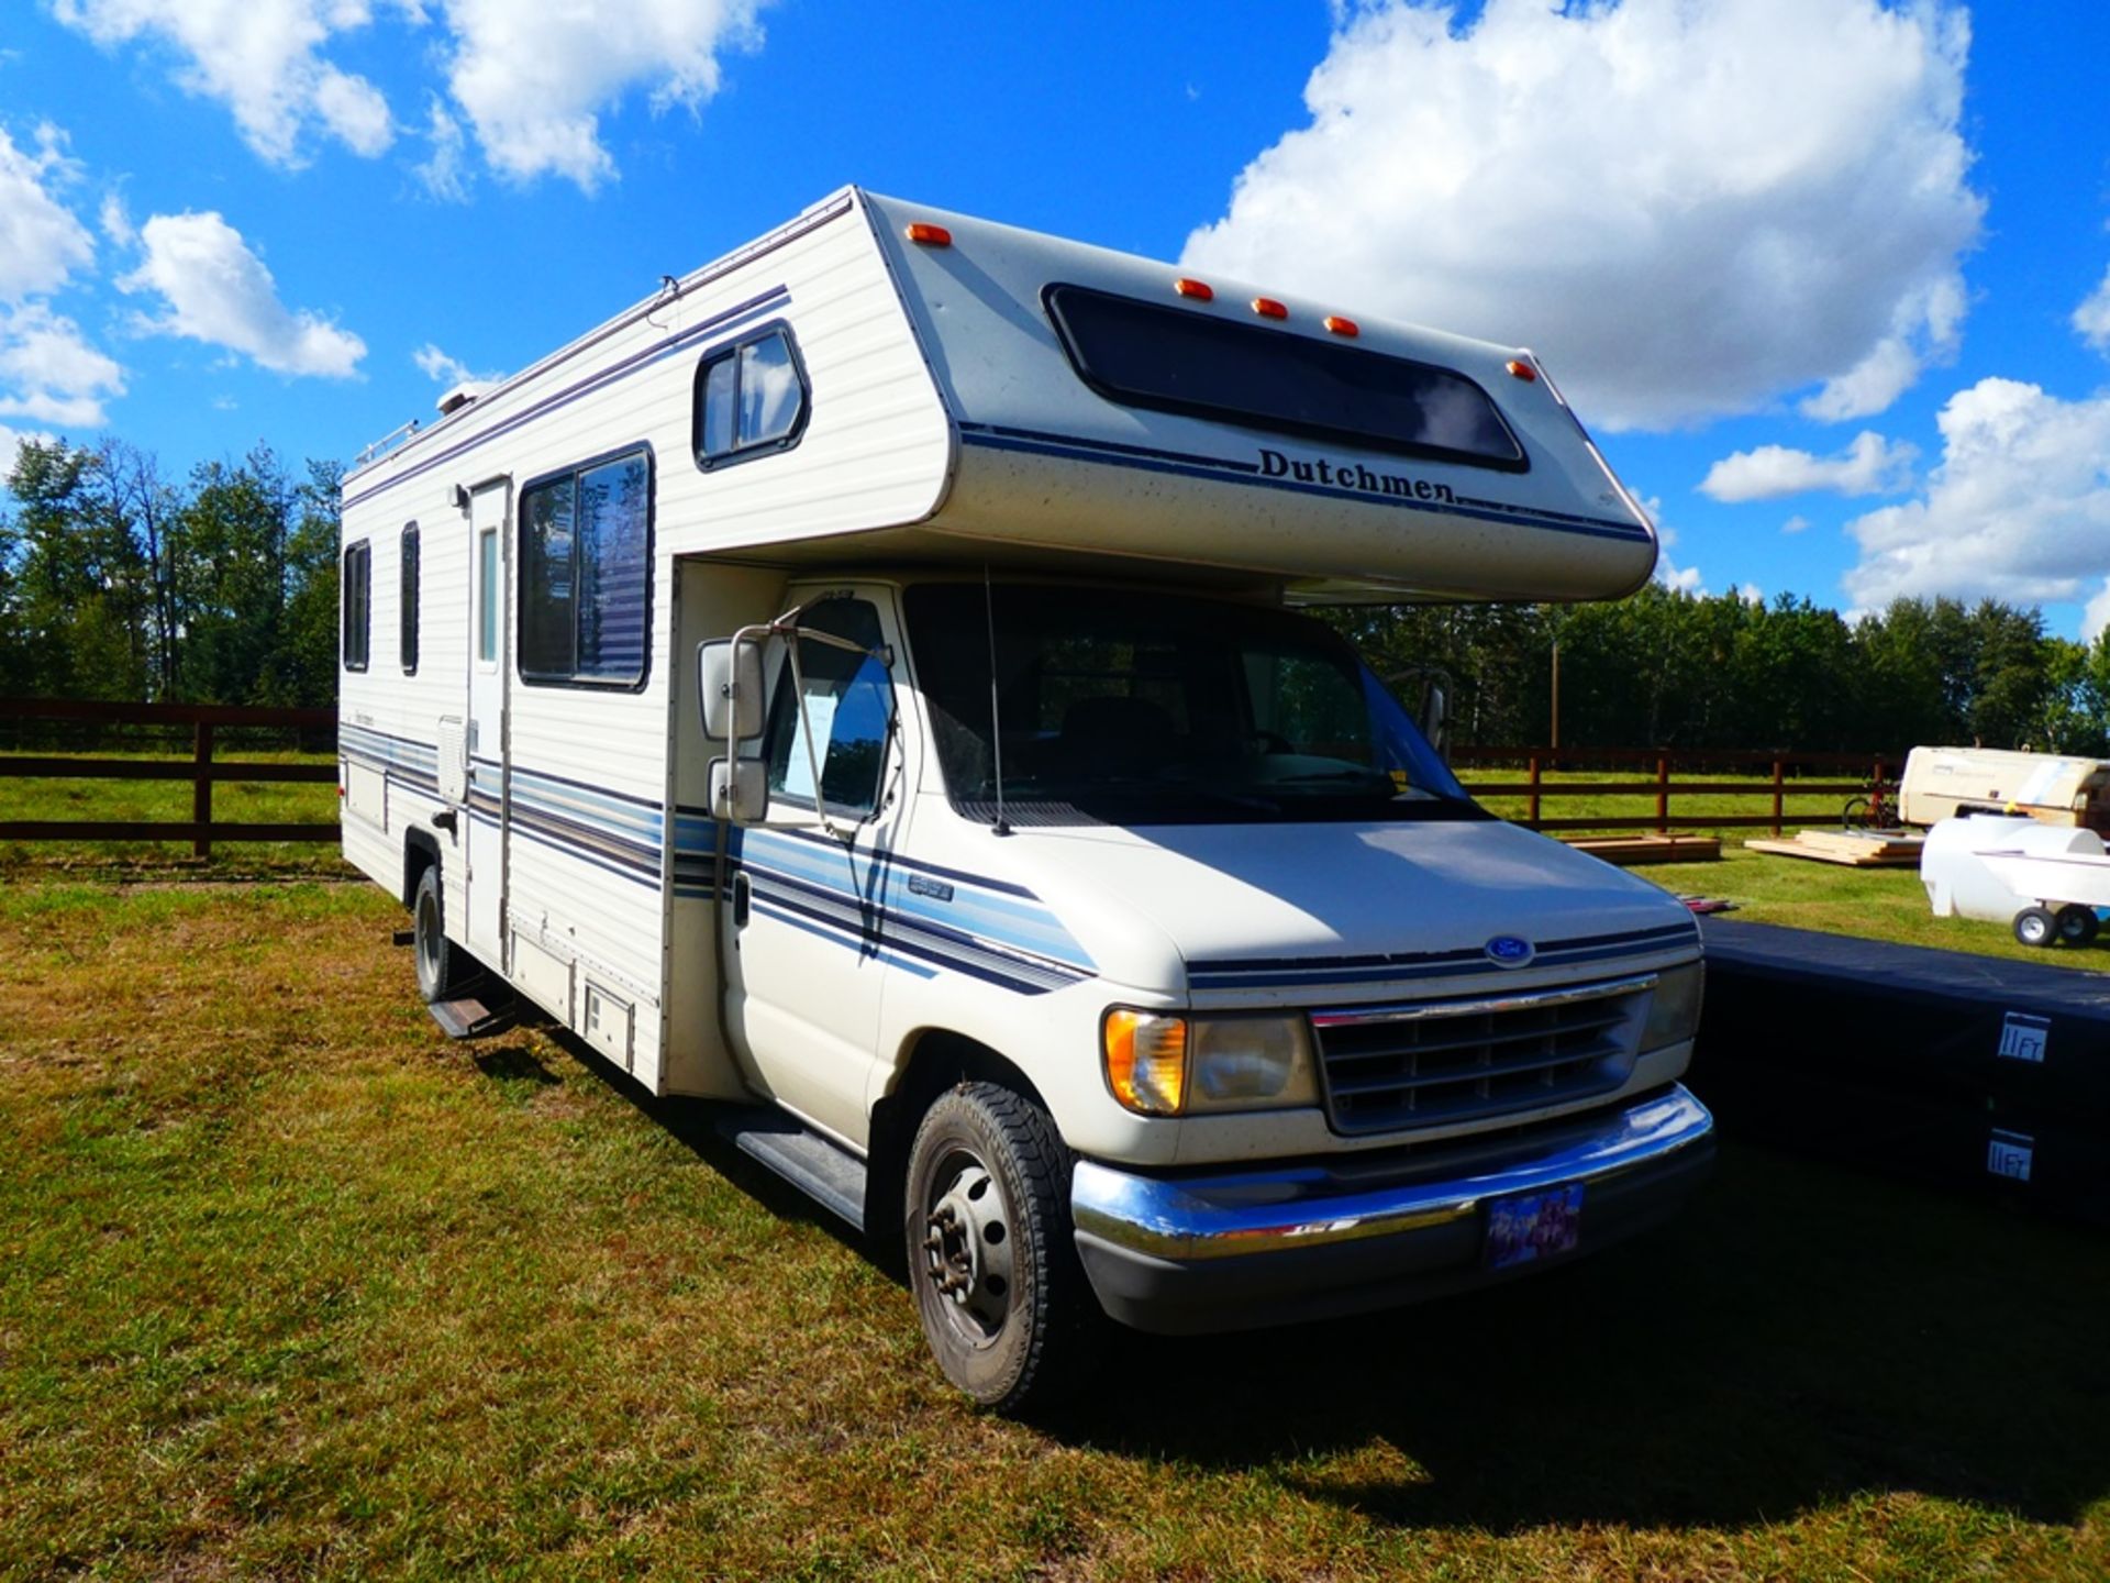
[{"label": "largest side window of the motorhome, right of its entry door", "polygon": [[650,608],[650,452],[521,490],[521,678],[644,686]]}]

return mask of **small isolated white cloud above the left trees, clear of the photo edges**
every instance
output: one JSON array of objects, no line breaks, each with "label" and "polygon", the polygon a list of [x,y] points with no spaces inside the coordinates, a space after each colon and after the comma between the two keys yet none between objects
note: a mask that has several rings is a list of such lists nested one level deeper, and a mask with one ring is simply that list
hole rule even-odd
[{"label": "small isolated white cloud above the left trees, clear of the photo edges", "polygon": [[118,281],[167,304],[141,319],[148,333],[226,346],[279,374],[350,378],[367,344],[306,308],[279,302],[279,285],[243,234],[217,213],[152,215],[139,228],[146,260]]}]

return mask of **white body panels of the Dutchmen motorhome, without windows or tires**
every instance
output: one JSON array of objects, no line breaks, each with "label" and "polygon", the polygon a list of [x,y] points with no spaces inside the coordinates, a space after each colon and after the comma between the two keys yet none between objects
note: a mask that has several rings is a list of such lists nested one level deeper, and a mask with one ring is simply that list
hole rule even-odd
[{"label": "white body panels of the Dutchmen motorhome, without windows or tires", "polygon": [[[909,241],[912,226],[935,230]],[[1709,1125],[1675,1085],[1690,1028],[1639,1049],[1658,1026],[1658,986],[1690,977],[1696,1015],[1696,929],[1656,886],[1595,859],[1492,819],[998,827],[1002,813],[983,819],[947,794],[926,699],[943,678],[922,673],[905,618],[918,589],[971,583],[992,616],[1009,587],[1207,593],[1226,610],[1589,599],[1639,587],[1654,566],[1646,515],[1530,352],[1348,323],[1331,304],[1262,312],[1258,289],[1226,281],[1201,300],[1173,279],[855,188],[814,205],[346,477],[346,587],[365,604],[346,606],[346,652],[363,665],[344,671],[340,732],[346,857],[407,903],[437,870],[445,941],[646,1089],[768,1102],[825,1138],[852,1178],[897,1176],[901,1129],[916,1123],[901,1110],[928,1098],[918,1064],[977,1051],[960,1070],[1015,1074],[1080,1161],[1076,1239],[1101,1307],[1209,1328],[1405,1290],[1367,1271],[1310,1290],[1272,1290],[1277,1279],[1243,1311],[1236,1281],[1220,1290],[1220,1254],[1251,1269],[1266,1256],[1245,1250],[1304,1237],[1302,1252],[1342,1243],[1363,1258],[1372,1239],[1403,1247],[1435,1228],[1443,1247],[1409,1262],[1447,1271],[1431,1290],[1462,1283],[1450,1264],[1460,1250],[1473,1264],[1483,1201],[1504,1182],[1591,1180],[1610,1184],[1610,1203],[1661,1176],[1669,1193],[1707,1152]],[[1057,285],[1260,325],[1283,346],[1353,342],[1431,365],[1488,395],[1521,460],[1504,471],[1241,424],[1211,412],[1207,390],[1194,409],[1110,397],[1072,359]],[[795,428],[707,466],[711,369],[776,329],[795,348]],[[755,359],[760,371],[738,378],[762,393],[757,422],[774,422],[785,386],[764,376],[781,365]],[[591,642],[635,654],[639,673],[530,675],[528,650],[536,665],[555,652],[549,610],[589,621],[589,551],[574,542],[584,515],[565,517],[561,534],[532,530],[542,559],[528,568],[523,500],[542,511],[561,496],[587,513],[580,502],[608,490],[629,502],[612,509],[620,532],[637,534],[646,513],[641,587],[608,593],[597,572],[606,608],[593,606]],[[401,604],[411,528],[414,642]],[[553,545],[574,557],[561,589]],[[523,576],[542,578],[532,612]],[[779,787],[760,823],[713,817],[713,760],[757,747],[703,737],[698,646],[829,599],[869,608],[869,648],[890,678],[869,815],[823,819],[785,806]],[[587,625],[565,631],[576,669]],[[785,648],[772,637],[764,654],[772,709],[791,686]],[[827,735],[802,709],[779,711],[793,722],[783,730]],[[798,779],[781,773],[787,787]],[[806,787],[819,802],[812,777]],[[1616,1083],[1372,1129],[1340,1125],[1331,1102],[1139,1114],[1101,1062],[1110,1007],[1325,1013],[1317,1049],[1327,1030],[1403,1026],[1431,1005],[1500,1017],[1538,1003],[1549,1017],[1616,1007],[1599,1017],[1627,1041]],[[1475,1146],[1490,1129],[1540,1129],[1542,1142],[1523,1163],[1490,1165]],[[1152,1176],[1450,1140],[1479,1152],[1441,1190],[1424,1169],[1412,1190],[1353,1209],[1308,1201],[1308,1186],[1262,1195],[1281,1214],[1302,1205],[1296,1224],[1241,1220],[1232,1205],[1253,1195],[1230,1178],[1215,1190],[1184,1176],[1169,1203],[1171,1178]],[[823,1197],[857,1218],[859,1193]],[[897,1199],[899,1184],[874,1176],[874,1205]],[[1315,1233],[1321,1220],[1331,1231]],[[1167,1298],[1158,1266],[1184,1279],[1201,1258],[1209,1281]]]}]

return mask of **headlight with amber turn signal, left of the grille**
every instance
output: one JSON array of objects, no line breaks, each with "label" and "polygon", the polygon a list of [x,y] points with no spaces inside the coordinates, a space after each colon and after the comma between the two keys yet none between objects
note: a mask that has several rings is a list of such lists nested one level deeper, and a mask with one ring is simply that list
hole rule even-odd
[{"label": "headlight with amber turn signal, left of the grille", "polygon": [[1144,1117],[1317,1104],[1304,1017],[1177,1017],[1114,1009],[1106,1087]]}]

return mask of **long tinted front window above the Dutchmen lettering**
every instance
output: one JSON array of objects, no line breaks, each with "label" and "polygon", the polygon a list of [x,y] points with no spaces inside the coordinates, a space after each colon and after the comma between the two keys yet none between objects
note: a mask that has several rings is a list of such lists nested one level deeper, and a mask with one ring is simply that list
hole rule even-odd
[{"label": "long tinted front window above the Dutchmen lettering", "polygon": [[1473,380],[1361,346],[1049,287],[1049,317],[1087,384],[1163,412],[1521,473],[1517,437]]}]

